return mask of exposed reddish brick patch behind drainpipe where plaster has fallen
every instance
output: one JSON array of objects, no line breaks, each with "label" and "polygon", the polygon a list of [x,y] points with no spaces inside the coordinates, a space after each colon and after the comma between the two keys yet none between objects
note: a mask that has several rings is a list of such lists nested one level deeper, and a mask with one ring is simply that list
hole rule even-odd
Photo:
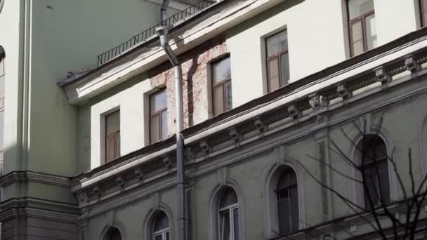
[{"label": "exposed reddish brick patch behind drainpipe where plaster has fallen", "polygon": [[[188,128],[208,116],[208,63],[228,54],[228,48],[223,37],[206,41],[178,56],[183,69],[183,110],[184,128]],[[168,95],[169,124],[175,122],[175,87],[173,67],[170,62],[164,62],[148,72],[153,87],[166,86]],[[198,114],[199,116],[194,116]]]}]

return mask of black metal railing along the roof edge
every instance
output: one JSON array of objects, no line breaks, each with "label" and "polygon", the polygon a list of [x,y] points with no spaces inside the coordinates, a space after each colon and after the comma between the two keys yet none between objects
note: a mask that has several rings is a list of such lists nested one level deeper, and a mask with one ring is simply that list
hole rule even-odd
[{"label": "black metal railing along the roof edge", "polygon": [[159,22],[157,25],[152,26],[149,29],[146,29],[144,32],[141,32],[140,34],[136,34],[128,41],[125,41],[123,44],[120,44],[119,46],[111,48],[109,51],[106,51],[105,53],[98,55],[98,67],[100,65],[103,65],[105,62],[108,62],[113,58],[116,58],[117,56],[121,55],[122,53],[128,51],[129,49],[133,48],[133,46],[143,43],[144,41],[149,39],[151,36],[154,36],[156,34],[157,27],[165,26],[165,25],[172,26],[174,23],[180,20],[183,20],[192,15],[195,15],[196,13],[203,11],[205,8],[211,6],[212,4],[215,4],[215,2],[216,1],[212,1],[212,0],[199,1],[195,5],[189,6],[188,8],[185,8],[183,11],[180,11],[179,13],[175,13],[171,15],[171,17],[167,18],[163,22]]}]

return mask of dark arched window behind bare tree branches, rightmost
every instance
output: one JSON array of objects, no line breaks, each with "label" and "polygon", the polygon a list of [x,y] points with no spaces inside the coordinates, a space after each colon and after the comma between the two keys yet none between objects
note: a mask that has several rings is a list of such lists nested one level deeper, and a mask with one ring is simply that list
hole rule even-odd
[{"label": "dark arched window behind bare tree branches, rightmost", "polygon": [[366,135],[360,142],[364,206],[372,208],[390,202],[386,143],[377,135]]}]

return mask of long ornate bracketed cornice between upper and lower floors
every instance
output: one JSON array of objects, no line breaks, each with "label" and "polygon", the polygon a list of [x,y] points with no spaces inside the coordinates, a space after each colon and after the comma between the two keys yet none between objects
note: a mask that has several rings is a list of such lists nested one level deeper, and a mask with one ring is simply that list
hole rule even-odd
[{"label": "long ornate bracketed cornice between upper and lower floors", "polygon": [[[424,43],[426,42],[424,41]],[[303,122],[315,122],[315,128],[310,129],[308,132],[305,131],[288,137],[287,140],[289,141],[291,138],[306,138],[311,133],[324,127],[348,121],[348,119],[355,117],[357,114],[362,114],[361,112],[373,111],[374,109],[393,105],[395,102],[414,98],[414,96],[426,92],[427,88],[424,84],[423,87],[418,86],[414,91],[408,91],[392,100],[385,100],[374,107],[366,107],[359,110],[359,112],[334,120],[334,122],[326,122],[325,119],[328,112],[336,111],[377,93],[393,93],[395,86],[420,83],[418,79],[427,73],[427,69],[421,67],[421,65],[425,66],[427,63],[427,46],[413,51],[410,55],[404,54],[398,58],[388,58],[388,55],[386,55],[383,58],[387,58],[388,62],[383,62],[381,68],[375,65],[371,68],[364,67],[364,72],[360,74],[355,76],[348,75],[340,81],[334,81],[333,84],[322,84],[322,87],[317,88],[317,91],[308,92],[299,98],[279,104],[268,111],[260,111],[245,121],[237,121],[236,124],[230,124],[228,128],[216,131],[213,134],[204,134],[204,138],[188,142],[186,145],[187,165],[203,163],[206,159],[221,156],[221,154],[230,152],[236,147],[249,145],[251,142],[284,131]],[[384,78],[389,80],[384,80]],[[274,101],[277,101],[277,99]],[[202,131],[202,133],[204,132]],[[106,192],[126,191],[165,174],[173,173],[175,171],[174,161],[165,162],[164,159],[166,156],[169,158],[174,157],[174,145],[164,148],[162,144],[159,144],[157,147],[160,150],[153,152],[155,154],[145,154],[140,157],[133,156],[132,159],[127,160],[119,159],[117,161],[118,164],[112,161],[110,167],[103,167],[103,171],[95,170],[75,178],[72,191],[79,195],[81,206],[88,206],[89,203],[97,203],[99,199],[107,199],[107,196],[114,195],[106,194]],[[256,152],[259,152],[258,150],[261,151],[262,149],[256,149]],[[152,151],[155,151],[155,149],[152,149]],[[242,153],[240,155],[242,157],[248,156],[248,154]],[[211,170],[202,169],[197,174],[203,174],[203,171]],[[94,199],[98,200],[93,201]]]}]

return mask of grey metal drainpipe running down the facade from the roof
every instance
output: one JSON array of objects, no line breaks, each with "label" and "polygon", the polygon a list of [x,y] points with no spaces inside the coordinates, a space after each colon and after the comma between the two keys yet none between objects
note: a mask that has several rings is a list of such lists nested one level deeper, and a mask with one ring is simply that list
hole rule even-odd
[{"label": "grey metal drainpipe running down the facade from the roof", "polygon": [[157,27],[157,34],[160,38],[160,44],[169,60],[171,61],[175,72],[175,102],[176,102],[176,184],[178,200],[178,240],[187,238],[187,222],[185,219],[185,159],[184,159],[184,138],[183,131],[183,70],[180,62],[169,46],[168,33],[169,26],[164,25],[167,18],[167,8],[169,0],[164,0],[160,9],[162,26]]}]

